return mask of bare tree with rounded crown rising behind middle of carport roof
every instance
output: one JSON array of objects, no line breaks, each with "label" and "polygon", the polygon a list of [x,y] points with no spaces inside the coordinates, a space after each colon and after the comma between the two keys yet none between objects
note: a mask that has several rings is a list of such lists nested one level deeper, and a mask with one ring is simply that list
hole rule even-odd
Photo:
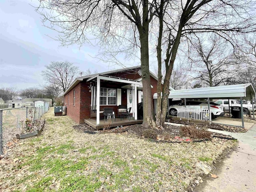
[{"label": "bare tree with rounded crown rising behind middle of carport roof", "polygon": [[197,37],[191,41],[190,60],[194,79],[206,86],[219,86],[230,82],[237,59],[226,40],[216,34]]}]

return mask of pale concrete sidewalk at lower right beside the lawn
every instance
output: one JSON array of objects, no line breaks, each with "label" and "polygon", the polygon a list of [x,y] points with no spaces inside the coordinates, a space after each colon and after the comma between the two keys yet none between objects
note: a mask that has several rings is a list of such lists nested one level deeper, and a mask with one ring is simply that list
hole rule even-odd
[{"label": "pale concrete sidewalk at lower right beside the lawn", "polygon": [[238,139],[239,145],[222,162],[219,170],[212,170],[218,178],[209,179],[198,186],[197,192],[254,192],[256,191],[256,124],[246,133],[230,133],[210,130],[231,135]]}]

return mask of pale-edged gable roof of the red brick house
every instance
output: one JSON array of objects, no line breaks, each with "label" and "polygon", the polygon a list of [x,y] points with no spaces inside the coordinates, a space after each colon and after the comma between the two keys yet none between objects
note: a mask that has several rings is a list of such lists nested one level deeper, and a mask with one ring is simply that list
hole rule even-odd
[{"label": "pale-edged gable roof of the red brick house", "polygon": [[[74,88],[74,86],[76,86],[79,82],[81,82],[82,80],[94,77],[96,75],[107,75],[107,74],[112,74],[112,73],[118,73],[118,72],[123,72],[123,71],[127,71],[127,70],[135,70],[140,68],[140,66],[135,66],[135,67],[128,67],[128,68],[122,68],[122,69],[117,69],[117,70],[111,70],[111,71],[107,71],[107,72],[102,72],[102,73],[98,73],[98,74],[92,74],[92,75],[87,75],[87,76],[82,76],[82,77],[78,77],[76,78],[72,84],[68,87],[68,89],[64,92],[63,95],[65,95],[67,92],[69,92],[72,88]],[[158,80],[158,77],[151,71],[150,72],[150,76],[152,76],[155,80]],[[164,84],[164,81],[162,81],[162,84]],[[169,87],[170,90],[174,90],[174,88]]]}]

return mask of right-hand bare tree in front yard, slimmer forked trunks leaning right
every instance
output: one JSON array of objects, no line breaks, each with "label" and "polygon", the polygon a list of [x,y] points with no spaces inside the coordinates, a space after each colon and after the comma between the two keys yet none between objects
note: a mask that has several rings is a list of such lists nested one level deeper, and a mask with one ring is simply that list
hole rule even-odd
[{"label": "right-hand bare tree in front yard, slimmer forked trunks leaning right", "polygon": [[[158,17],[158,78],[162,80],[161,68],[164,63],[166,74],[161,88],[158,82],[156,124],[163,127],[169,95],[169,82],[180,42],[190,42],[198,34],[214,33],[232,46],[243,33],[255,31],[255,16],[252,1],[154,1]],[[164,48],[164,51],[163,51]],[[184,47],[180,48],[184,51]],[[162,56],[164,59],[162,60]]]}]

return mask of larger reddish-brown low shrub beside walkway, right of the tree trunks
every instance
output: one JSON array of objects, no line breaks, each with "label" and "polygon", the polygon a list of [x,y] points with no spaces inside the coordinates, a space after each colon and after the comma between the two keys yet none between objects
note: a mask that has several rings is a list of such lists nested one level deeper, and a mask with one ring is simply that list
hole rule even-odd
[{"label": "larger reddish-brown low shrub beside walkway, right of the tree trunks", "polygon": [[190,137],[194,139],[210,139],[211,132],[207,131],[205,128],[198,128],[197,126],[181,126],[180,134],[184,137]]}]

